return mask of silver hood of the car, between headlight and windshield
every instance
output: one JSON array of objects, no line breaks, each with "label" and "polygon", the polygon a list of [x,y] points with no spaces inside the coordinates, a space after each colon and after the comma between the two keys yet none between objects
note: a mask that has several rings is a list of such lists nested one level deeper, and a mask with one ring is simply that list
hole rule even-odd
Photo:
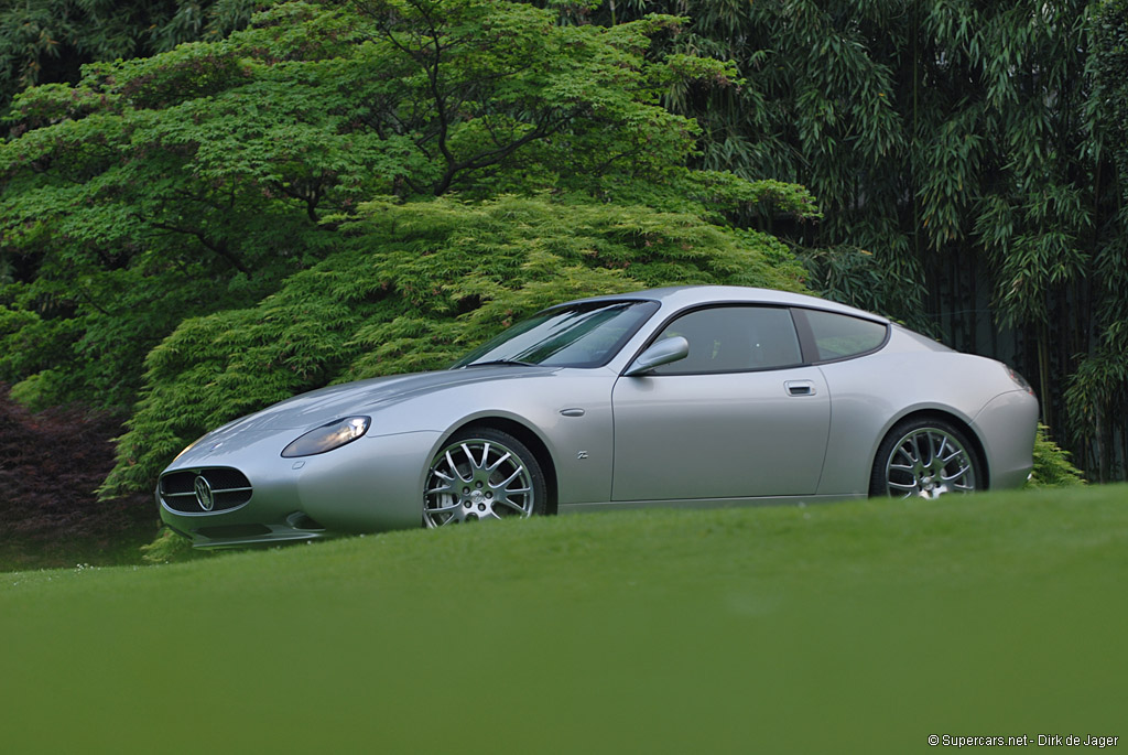
[{"label": "silver hood of the car, between headlight and windshield", "polygon": [[457,370],[415,372],[371,378],[328,386],[288,398],[228,423],[211,436],[236,432],[296,430],[316,428],[355,414],[368,414],[390,403],[416,398],[456,385],[540,377],[558,371],[556,367],[468,367]]}]

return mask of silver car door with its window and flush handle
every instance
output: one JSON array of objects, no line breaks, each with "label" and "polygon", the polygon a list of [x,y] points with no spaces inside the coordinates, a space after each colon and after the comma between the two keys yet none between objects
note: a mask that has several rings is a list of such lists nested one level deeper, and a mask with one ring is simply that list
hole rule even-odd
[{"label": "silver car door with its window and flush handle", "polygon": [[813,493],[830,396],[821,371],[803,363],[790,309],[696,309],[655,341],[676,335],[688,357],[615,384],[611,499]]}]

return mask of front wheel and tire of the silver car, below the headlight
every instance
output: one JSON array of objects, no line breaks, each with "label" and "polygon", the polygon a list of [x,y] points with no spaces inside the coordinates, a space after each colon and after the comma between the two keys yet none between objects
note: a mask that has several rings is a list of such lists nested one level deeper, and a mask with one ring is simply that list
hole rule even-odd
[{"label": "front wheel and tire of the silver car, below the headlight", "polygon": [[520,440],[493,428],[469,428],[435,454],[423,488],[423,524],[527,518],[547,510],[545,475]]}]

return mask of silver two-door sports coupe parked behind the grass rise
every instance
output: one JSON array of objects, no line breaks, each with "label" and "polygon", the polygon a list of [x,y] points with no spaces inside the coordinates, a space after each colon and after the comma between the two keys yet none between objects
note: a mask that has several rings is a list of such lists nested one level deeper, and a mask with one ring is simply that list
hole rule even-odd
[{"label": "silver two-door sports coupe parked behind the grass rise", "polygon": [[450,369],[315,390],[160,475],[200,547],[641,506],[1021,485],[1038,402],[1006,366],[763,289],[582,299]]}]

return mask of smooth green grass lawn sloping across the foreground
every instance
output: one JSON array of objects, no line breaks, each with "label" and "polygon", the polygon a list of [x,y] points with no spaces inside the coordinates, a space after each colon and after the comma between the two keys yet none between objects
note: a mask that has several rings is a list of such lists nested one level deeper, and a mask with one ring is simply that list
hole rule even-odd
[{"label": "smooth green grass lawn sloping across the foreground", "polygon": [[1128,488],[647,511],[0,574],[0,747],[1128,747]]}]

